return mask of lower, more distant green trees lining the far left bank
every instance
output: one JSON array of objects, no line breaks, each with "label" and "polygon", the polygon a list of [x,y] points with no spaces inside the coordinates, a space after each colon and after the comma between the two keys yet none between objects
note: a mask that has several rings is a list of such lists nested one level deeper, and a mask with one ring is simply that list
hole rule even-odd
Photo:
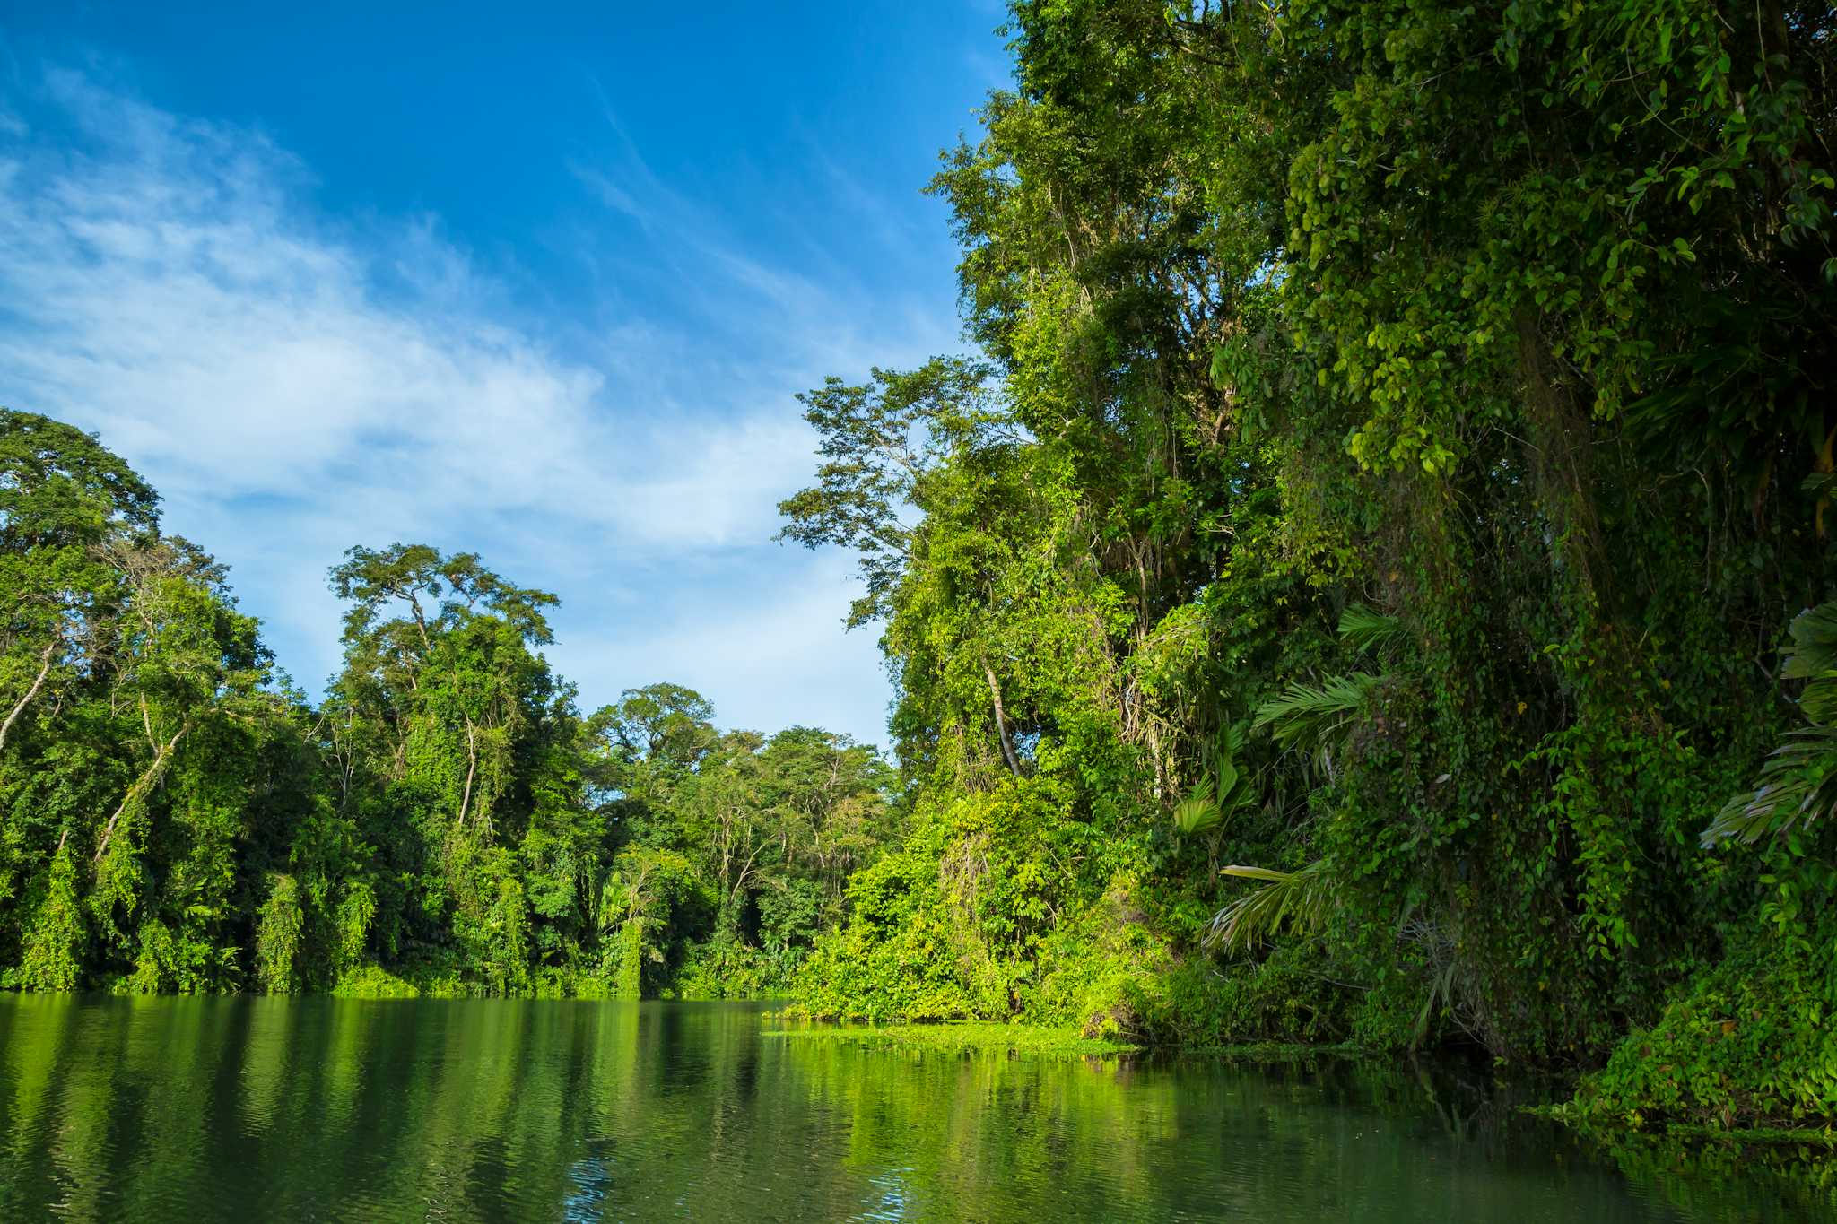
[{"label": "lower, more distant green trees lining the far left bank", "polygon": [[896,826],[874,749],[590,718],[555,596],[351,549],[312,708],[96,439],[0,411],[0,973],[28,989],[783,989]]}]

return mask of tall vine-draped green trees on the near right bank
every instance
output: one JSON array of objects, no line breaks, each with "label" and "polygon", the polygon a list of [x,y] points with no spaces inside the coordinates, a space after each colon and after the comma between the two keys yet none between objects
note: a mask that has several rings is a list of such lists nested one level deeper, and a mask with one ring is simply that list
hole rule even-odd
[{"label": "tall vine-draped green trees on the near right bank", "polygon": [[1837,1112],[1833,26],[1014,4],[986,362],[805,396],[913,811],[808,1006]]}]

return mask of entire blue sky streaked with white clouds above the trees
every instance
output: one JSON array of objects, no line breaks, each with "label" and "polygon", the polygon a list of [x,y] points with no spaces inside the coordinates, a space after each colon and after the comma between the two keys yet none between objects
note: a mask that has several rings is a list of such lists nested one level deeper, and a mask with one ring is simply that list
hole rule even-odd
[{"label": "entire blue sky streaked with white clouds above the trees", "polygon": [[[795,391],[963,347],[941,147],[996,4],[0,2],[0,404],[88,429],[294,677],[351,543],[562,596],[592,708],[884,740]],[[663,11],[671,9],[671,11]]]}]

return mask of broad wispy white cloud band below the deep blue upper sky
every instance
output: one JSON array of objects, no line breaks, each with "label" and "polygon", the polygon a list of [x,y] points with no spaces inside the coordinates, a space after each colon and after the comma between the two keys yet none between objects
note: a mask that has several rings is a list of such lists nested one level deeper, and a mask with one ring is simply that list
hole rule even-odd
[{"label": "broad wispy white cloud band below the deep blue upper sky", "polygon": [[812,462],[790,393],[948,343],[948,316],[863,314],[726,240],[623,141],[579,178],[650,257],[606,275],[674,281],[724,330],[612,295],[580,343],[437,217],[325,217],[261,132],[61,70],[29,101],[0,106],[0,402],[140,466],[301,679],[334,664],[325,565],[421,538],[557,589],[557,661],[588,701],[683,679],[749,723],[878,738],[885,683],[871,640],[841,639],[840,560],[768,543]]}]

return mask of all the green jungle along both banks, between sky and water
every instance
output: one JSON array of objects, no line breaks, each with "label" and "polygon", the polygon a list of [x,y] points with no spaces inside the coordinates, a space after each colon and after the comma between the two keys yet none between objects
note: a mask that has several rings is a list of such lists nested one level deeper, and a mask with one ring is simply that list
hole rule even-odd
[{"label": "all the green jungle along both banks, between sky and water", "polygon": [[332,569],[314,705],[11,413],[6,982],[788,989],[1837,1112],[1831,9],[1007,31],[931,187],[970,356],[808,391],[781,506],[860,556],[895,763],[672,686],[580,716],[553,596],[424,547]]}]

